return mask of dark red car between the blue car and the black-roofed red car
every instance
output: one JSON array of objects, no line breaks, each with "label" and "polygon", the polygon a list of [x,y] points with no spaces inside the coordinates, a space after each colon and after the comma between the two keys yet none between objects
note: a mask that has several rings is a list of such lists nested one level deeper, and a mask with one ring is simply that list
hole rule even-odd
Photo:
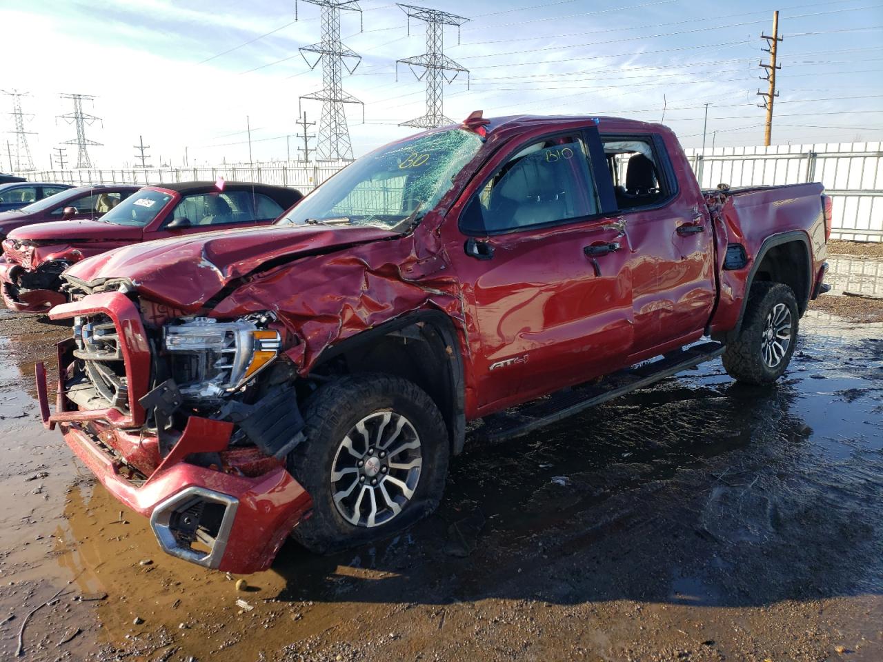
[{"label": "dark red car between the blue car and the black-roofed red car", "polygon": [[[79,219],[101,218],[120,202],[138,191],[135,184],[96,184],[77,186],[56,184],[56,187],[42,199],[26,207],[0,212],[0,241],[9,233],[23,225],[49,221],[67,221],[73,216]],[[49,186],[43,186],[44,193]]]}]

